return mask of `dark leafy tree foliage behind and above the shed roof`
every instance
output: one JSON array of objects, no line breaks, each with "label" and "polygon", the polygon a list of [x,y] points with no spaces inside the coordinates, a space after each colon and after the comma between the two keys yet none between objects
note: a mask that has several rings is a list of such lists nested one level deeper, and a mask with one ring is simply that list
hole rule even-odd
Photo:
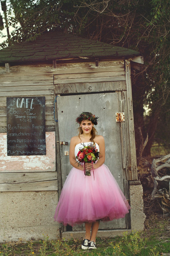
[{"label": "dark leafy tree foliage behind and above the shed roof", "polygon": [[[9,10],[8,24],[15,30],[3,46],[33,40],[46,30],[62,30],[141,52],[145,65],[141,71],[132,70],[137,150],[138,127],[143,136],[149,134],[146,155],[155,134],[167,143],[169,136],[161,134],[169,125],[169,0],[10,2],[14,16]],[[144,105],[150,109],[147,116]]]}]

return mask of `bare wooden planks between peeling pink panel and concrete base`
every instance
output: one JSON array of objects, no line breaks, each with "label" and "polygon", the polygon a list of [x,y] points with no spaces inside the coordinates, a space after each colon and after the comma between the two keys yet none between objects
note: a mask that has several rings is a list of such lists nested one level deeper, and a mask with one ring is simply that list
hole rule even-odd
[{"label": "bare wooden planks between peeling pink panel and concrete base", "polygon": [[0,173],[0,192],[58,190],[57,172]]}]

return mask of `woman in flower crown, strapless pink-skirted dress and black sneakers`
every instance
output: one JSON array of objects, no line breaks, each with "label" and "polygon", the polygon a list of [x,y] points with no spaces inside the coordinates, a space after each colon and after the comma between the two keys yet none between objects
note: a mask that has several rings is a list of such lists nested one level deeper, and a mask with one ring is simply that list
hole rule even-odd
[{"label": "woman in flower crown, strapless pink-skirted dress and black sneakers", "polygon": [[[56,221],[64,225],[85,223],[82,249],[96,249],[100,220],[124,218],[130,209],[110,170],[104,165],[104,138],[97,135],[94,127],[98,124],[97,119],[90,112],[83,112],[76,118],[80,125],[79,135],[71,138],[69,152],[73,168],[64,183],[54,216]],[[99,159],[93,165],[85,164],[85,168],[94,175],[84,176],[84,166],[76,161],[76,156],[80,148],[91,144],[100,152]]]}]

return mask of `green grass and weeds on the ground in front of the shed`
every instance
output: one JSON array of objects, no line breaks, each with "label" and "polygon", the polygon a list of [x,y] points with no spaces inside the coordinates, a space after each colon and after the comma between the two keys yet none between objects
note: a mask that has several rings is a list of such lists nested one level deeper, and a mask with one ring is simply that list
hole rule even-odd
[{"label": "green grass and weeds on the ground in front of the shed", "polygon": [[123,237],[97,238],[97,250],[83,251],[80,240],[44,240],[0,244],[0,256],[158,256],[170,252],[170,219],[147,217],[145,230]]}]

